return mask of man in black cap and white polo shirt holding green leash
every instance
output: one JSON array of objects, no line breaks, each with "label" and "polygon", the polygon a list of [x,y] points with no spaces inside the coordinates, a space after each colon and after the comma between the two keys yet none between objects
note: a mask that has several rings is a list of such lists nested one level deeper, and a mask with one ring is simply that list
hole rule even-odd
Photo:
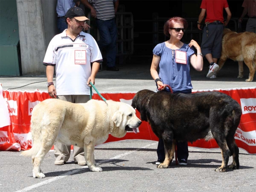
[{"label": "man in black cap and white polo shirt holding green leash", "polygon": [[[66,13],[67,29],[53,37],[48,45],[44,65],[47,66],[48,93],[52,98],[72,103],[85,103],[90,100],[89,83],[95,82],[102,55],[93,37],[82,32],[86,20],[88,19],[81,8],[70,8]],[[53,83],[54,66],[56,88]],[[75,163],[85,165],[84,149],[73,147]],[[56,141],[54,153],[54,164],[63,165],[70,157],[70,145]]]}]

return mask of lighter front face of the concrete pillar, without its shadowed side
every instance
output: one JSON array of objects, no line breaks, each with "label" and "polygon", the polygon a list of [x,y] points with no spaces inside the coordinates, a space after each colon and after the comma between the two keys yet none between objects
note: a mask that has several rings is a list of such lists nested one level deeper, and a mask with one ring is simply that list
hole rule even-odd
[{"label": "lighter front face of the concrete pillar, without its shadowed side", "polygon": [[41,0],[17,0],[23,75],[45,74],[46,52]]}]

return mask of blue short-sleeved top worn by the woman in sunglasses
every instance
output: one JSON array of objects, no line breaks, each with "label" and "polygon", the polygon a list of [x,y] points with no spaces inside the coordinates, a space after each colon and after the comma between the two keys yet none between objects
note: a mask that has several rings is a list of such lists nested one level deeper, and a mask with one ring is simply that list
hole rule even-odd
[{"label": "blue short-sleeved top worn by the woman in sunglasses", "polygon": [[[191,90],[193,87],[189,73],[189,58],[195,54],[194,48],[190,48],[189,44],[184,43],[180,49],[176,50],[186,52],[186,65],[175,62],[175,50],[166,47],[165,42],[155,46],[153,54],[161,57],[159,77],[163,84],[169,85],[174,92]],[[166,89],[169,90],[168,87]]]}]

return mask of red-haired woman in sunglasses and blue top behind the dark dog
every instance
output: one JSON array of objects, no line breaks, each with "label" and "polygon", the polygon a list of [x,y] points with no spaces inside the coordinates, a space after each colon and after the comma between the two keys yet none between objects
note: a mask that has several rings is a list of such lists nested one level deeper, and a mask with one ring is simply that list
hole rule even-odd
[{"label": "red-haired woman in sunglasses and blue top behind the dark dog", "polygon": [[[157,88],[163,86],[161,90],[170,91],[169,88],[166,88],[166,85],[169,85],[173,93],[191,93],[193,87],[189,74],[190,64],[197,71],[203,70],[203,57],[198,43],[194,40],[191,40],[189,44],[180,41],[187,27],[188,23],[184,18],[170,18],[163,28],[164,34],[170,39],[156,45],[153,50],[150,73],[157,83]],[[195,54],[193,47],[197,50],[197,54]],[[158,67],[160,68],[159,74],[157,73]],[[188,143],[177,142],[179,165],[186,165],[188,156]],[[159,138],[157,157],[156,164],[162,163],[165,159],[162,138]]]}]

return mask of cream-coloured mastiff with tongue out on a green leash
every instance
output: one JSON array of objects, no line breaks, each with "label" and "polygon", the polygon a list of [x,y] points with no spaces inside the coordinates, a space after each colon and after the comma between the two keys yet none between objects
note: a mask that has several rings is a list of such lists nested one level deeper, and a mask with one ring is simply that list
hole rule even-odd
[{"label": "cream-coloured mastiff with tongue out on a green leash", "polygon": [[33,147],[21,155],[32,157],[33,177],[44,178],[41,164],[57,139],[64,144],[84,147],[84,158],[91,171],[102,168],[94,159],[95,145],[104,143],[109,133],[121,138],[127,131],[137,133],[141,121],[131,105],[112,100],[91,99],[74,104],[60,99],[46,99],[32,110]]}]

